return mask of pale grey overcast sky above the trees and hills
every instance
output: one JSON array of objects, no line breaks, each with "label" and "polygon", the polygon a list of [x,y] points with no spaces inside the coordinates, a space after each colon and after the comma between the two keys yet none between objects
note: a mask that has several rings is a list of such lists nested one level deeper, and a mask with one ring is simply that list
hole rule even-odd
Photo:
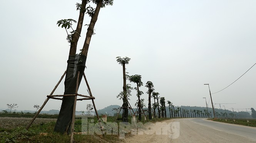
[{"label": "pale grey overcast sky above the trees and hills", "polygon": [[[17,110],[35,110],[67,68],[69,43],[62,19],[78,20],[80,0],[1,0],[0,109],[18,104]],[[141,75],[141,98],[147,104],[145,84],[175,106],[205,107],[211,93],[238,79],[256,63],[255,0],[114,0],[102,8],[95,24],[85,75],[97,109],[120,105],[122,66],[116,57],[131,58],[126,71]],[[84,24],[89,24],[86,17]],[[76,27],[76,24],[73,26]],[[87,27],[77,47],[82,49]],[[233,85],[212,94],[212,101],[235,111],[254,107],[256,66]],[[129,83],[129,82],[127,82]],[[135,83],[130,83],[135,87]],[[88,95],[82,80],[79,93]],[[54,94],[64,93],[62,81]],[[132,91],[132,107],[137,100]],[[86,110],[91,101],[77,101]],[[167,104],[167,103],[166,103]],[[223,105],[222,108],[223,108]],[[50,99],[43,110],[60,109]]]}]

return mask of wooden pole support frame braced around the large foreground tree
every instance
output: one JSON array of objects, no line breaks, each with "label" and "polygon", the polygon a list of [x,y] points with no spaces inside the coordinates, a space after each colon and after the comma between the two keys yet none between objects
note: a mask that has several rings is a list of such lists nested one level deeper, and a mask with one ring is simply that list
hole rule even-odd
[{"label": "wooden pole support frame braced around the large foreground tree", "polygon": [[[63,100],[63,98],[56,98],[56,97],[64,97],[64,96],[75,96],[75,101],[74,101],[74,106],[73,106],[73,114],[72,114],[72,120],[71,120],[71,134],[70,134],[70,143],[73,143],[74,142],[74,124],[75,124],[75,108],[76,108],[76,104],[77,104],[77,101],[82,101],[82,100],[92,100],[92,104],[94,106],[94,110],[95,110],[95,113],[97,115],[97,119],[98,119],[98,122],[99,122],[99,125],[100,125],[100,130],[102,132],[102,135],[104,136],[104,131],[103,131],[103,128],[102,128],[102,125],[101,125],[101,121],[100,121],[100,117],[99,117],[99,114],[97,112],[97,109],[96,109],[96,106],[95,106],[95,103],[94,103],[94,99],[95,97],[92,96],[92,92],[90,90],[90,86],[88,84],[88,81],[85,77],[85,74],[83,73],[83,76],[84,76],[84,79],[85,79],[85,82],[86,82],[86,85],[87,85],[87,91],[89,93],[90,96],[85,96],[85,95],[82,95],[82,94],[78,94],[78,84],[79,84],[79,74],[80,72],[78,72],[77,74],[77,83],[76,83],[76,90],[75,90],[75,94],[65,94],[65,95],[53,95],[54,91],[57,89],[57,87],[59,86],[60,82],[62,81],[62,79],[64,78],[65,74],[67,73],[67,70],[64,72],[64,74],[61,76],[59,82],[57,83],[57,85],[54,87],[54,89],[52,90],[52,92],[50,93],[50,95],[47,95],[47,99],[45,99],[44,101],[44,104],[40,107],[40,109],[37,111],[37,113],[35,114],[35,116],[33,117],[33,119],[30,121],[30,123],[28,124],[27,126],[27,130],[28,128],[32,125],[32,123],[34,122],[34,120],[37,118],[38,114],[41,112],[41,110],[44,108],[45,104],[49,101],[50,98],[52,99],[57,99],[57,100]],[[80,98],[80,99],[77,99],[77,96],[81,96],[83,98]]]}]

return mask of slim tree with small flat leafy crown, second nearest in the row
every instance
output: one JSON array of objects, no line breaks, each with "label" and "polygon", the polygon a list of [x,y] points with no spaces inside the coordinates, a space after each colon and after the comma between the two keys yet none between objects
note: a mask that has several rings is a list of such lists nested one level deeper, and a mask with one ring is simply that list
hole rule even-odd
[{"label": "slim tree with small flat leafy crown, second nearest in the row", "polygon": [[[130,94],[128,94],[127,96],[127,85],[126,85],[126,78],[127,78],[127,75],[125,74],[125,64],[129,64],[129,61],[131,60],[130,58],[128,57],[124,57],[124,58],[121,58],[121,57],[116,57],[117,59],[117,62],[122,65],[123,67],[123,105],[122,107],[124,107],[124,112],[123,112],[123,122],[128,122],[128,96],[131,95],[131,92]],[[130,86],[131,87],[131,86]],[[131,88],[130,88],[131,89]]]}]

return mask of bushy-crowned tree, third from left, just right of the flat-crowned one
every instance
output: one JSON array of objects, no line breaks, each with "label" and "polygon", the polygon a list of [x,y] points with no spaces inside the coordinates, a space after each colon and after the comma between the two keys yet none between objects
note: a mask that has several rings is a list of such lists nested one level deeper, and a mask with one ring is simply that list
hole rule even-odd
[{"label": "bushy-crowned tree, third from left, just right of the flat-crowned one", "polygon": [[141,81],[141,75],[131,75],[129,76],[129,80],[130,82],[136,83],[137,87],[134,88],[135,90],[137,90],[137,97],[138,97],[138,107],[139,107],[139,120],[141,120],[141,95],[143,94],[142,91],[139,90],[139,87],[141,87],[143,85],[142,81]]}]

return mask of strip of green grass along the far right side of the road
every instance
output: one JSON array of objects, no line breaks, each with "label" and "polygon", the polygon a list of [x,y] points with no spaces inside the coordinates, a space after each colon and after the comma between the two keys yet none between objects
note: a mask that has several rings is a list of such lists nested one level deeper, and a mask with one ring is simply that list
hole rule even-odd
[{"label": "strip of green grass along the far right side of the road", "polygon": [[235,121],[234,121],[234,119],[211,119],[211,120],[217,121],[217,122],[233,123],[233,124],[238,124],[238,125],[256,127],[256,120],[248,120],[249,122],[247,122],[246,119],[235,119]]}]

